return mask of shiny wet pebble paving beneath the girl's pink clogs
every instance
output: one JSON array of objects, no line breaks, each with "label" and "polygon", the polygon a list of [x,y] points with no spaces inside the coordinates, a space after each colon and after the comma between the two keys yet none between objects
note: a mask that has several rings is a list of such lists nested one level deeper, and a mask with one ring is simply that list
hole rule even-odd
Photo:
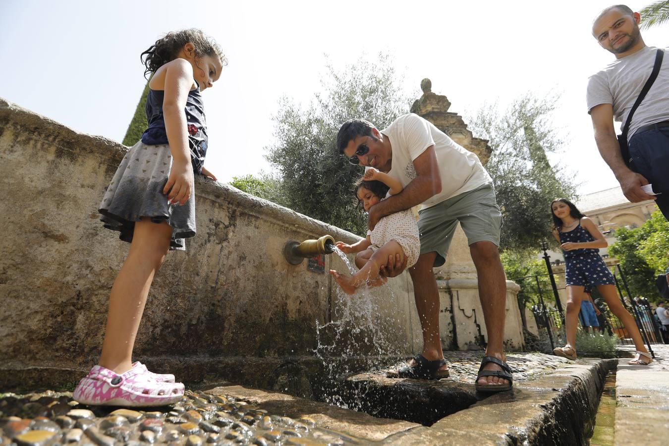
[{"label": "shiny wet pebble paving beneath the girl's pink clogs", "polygon": [[146,410],[80,405],[71,394],[52,391],[0,394],[0,446],[345,445],[345,439],[306,417],[191,391],[176,405]]}]

